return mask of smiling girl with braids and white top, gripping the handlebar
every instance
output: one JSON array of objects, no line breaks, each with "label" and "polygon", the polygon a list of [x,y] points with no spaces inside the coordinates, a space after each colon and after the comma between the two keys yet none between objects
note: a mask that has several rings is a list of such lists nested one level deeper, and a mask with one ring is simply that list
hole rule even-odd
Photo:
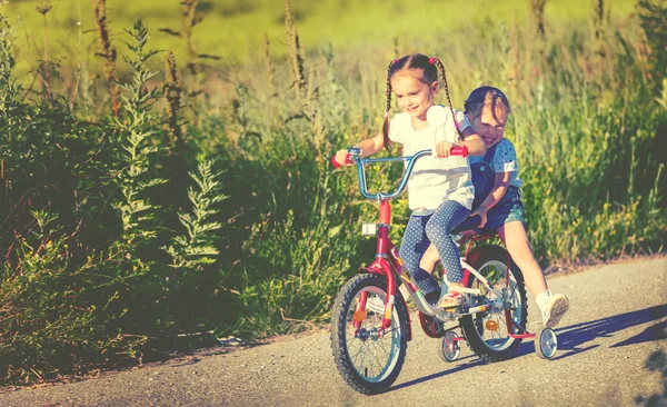
[{"label": "smiling girl with braids and white top, gripping the handlebar", "polygon": [[[390,141],[395,141],[404,146],[406,156],[436,147],[438,158],[449,157],[422,157],[415,163],[408,180],[408,201],[412,212],[399,254],[415,279],[420,280],[418,276],[426,271],[419,269],[419,261],[432,242],[450,282],[448,291],[441,292],[438,306],[455,308],[465,304],[467,297],[462,294],[464,270],[450,231],[470,215],[474,189],[468,159],[450,157],[449,153],[455,143],[465,145],[470,155],[482,155],[486,148],[480,137],[472,133],[470,128],[462,132],[465,140],[460,140],[451,102],[449,109],[452,120],[446,122],[445,140],[436,139],[436,127],[429,125],[426,116],[428,109],[434,106],[434,97],[440,88],[438,71],[442,76],[449,100],[445,67],[439,59],[416,53],[392,61],[387,72],[387,110],[382,133],[355,147],[361,149],[361,156],[370,156],[380,151],[382,147],[388,149]],[[401,113],[395,115],[389,121],[391,93],[396,96]],[[462,115],[456,121],[461,119]],[[344,163],[346,155],[347,150],[339,150],[336,161]],[[442,285],[444,289],[445,287]]]}]

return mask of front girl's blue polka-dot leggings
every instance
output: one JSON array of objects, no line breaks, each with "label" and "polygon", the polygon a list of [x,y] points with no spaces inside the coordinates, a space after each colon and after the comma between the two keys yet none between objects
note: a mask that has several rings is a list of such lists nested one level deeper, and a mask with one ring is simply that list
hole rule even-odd
[{"label": "front girl's blue polka-dot leggings", "polygon": [[470,209],[454,200],[445,201],[432,215],[410,216],[399,250],[408,270],[414,274],[419,269],[419,261],[432,241],[449,282],[460,282],[464,269],[450,231],[468,216]]}]

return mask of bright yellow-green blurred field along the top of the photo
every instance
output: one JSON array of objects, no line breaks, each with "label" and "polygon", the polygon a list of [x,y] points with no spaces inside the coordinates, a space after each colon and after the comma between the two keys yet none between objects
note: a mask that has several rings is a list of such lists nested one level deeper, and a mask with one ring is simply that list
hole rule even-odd
[{"label": "bright yellow-green blurred field along the top of the photo", "polygon": [[[20,20],[21,38],[18,72],[34,69],[34,61],[43,58],[44,22],[37,7],[51,4],[46,14],[49,24],[48,53],[51,59],[63,63],[86,60],[89,64],[100,63],[94,58],[98,51],[94,26],[89,0],[23,0],[10,1],[2,13],[11,22]],[[627,17],[634,2],[617,1],[613,4],[613,18]],[[575,0],[548,2],[547,19],[587,22],[591,4]],[[369,46],[394,49],[434,36],[454,34],[468,27],[485,27],[489,21],[516,19],[519,24],[529,22],[527,2],[511,1],[420,1],[406,6],[405,1],[391,0],[309,0],[292,1],[295,19],[309,52],[331,44],[335,50],[365,49]],[[186,60],[185,39],[159,32],[161,28],[182,31],[179,0],[107,2],[108,24],[111,40],[121,40],[123,29],[135,18],[142,19],[151,30],[156,48],[175,52],[177,61]],[[223,68],[262,58],[263,34],[275,44],[285,43],[285,2],[282,0],[216,0],[199,1],[198,14],[202,17],[195,27],[196,47],[199,53],[215,56],[220,60],[206,63]],[[456,36],[455,36],[456,37]],[[117,43],[117,48],[122,49]],[[277,57],[285,57],[283,47],[275,47]]]}]

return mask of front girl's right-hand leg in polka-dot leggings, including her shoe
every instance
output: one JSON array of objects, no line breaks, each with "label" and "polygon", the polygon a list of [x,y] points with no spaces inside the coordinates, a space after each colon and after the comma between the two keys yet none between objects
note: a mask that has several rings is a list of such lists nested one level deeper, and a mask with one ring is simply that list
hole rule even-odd
[{"label": "front girl's right-hand leg in polka-dot leggings, including her shoe", "polygon": [[[447,274],[449,291],[457,291],[457,288],[461,286],[461,280],[464,279],[464,268],[461,267],[459,250],[454,242],[450,231],[469,215],[470,209],[457,201],[448,200],[438,208],[426,225],[426,235],[438,249],[438,255],[440,256],[442,267]],[[442,285],[442,290],[445,290],[445,285]],[[457,292],[460,294],[460,291]],[[445,292],[442,292],[442,295],[445,295]],[[440,302],[442,302],[442,300],[440,300]],[[449,305],[440,302],[438,304],[439,306],[445,308],[449,307]],[[449,302],[451,302],[451,306],[457,306],[460,304],[460,299],[457,298],[455,301]]]}]

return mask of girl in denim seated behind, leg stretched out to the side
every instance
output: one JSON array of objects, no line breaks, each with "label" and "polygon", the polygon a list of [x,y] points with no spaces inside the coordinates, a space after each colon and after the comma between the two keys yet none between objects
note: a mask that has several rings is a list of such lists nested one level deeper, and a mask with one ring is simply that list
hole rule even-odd
[{"label": "girl in denim seated behind, leg stretched out to the side", "polygon": [[[489,151],[495,149],[494,153],[489,153],[494,157],[489,165],[496,173],[494,188],[470,216],[479,216],[478,231],[498,234],[524,274],[526,286],[535,295],[542,314],[542,324],[549,328],[555,327],[567,312],[569,300],[563,294],[551,294],[548,289],[542,270],[535,260],[528,242],[517,155],[511,141],[502,137],[509,116],[509,101],[499,89],[481,87],[470,93],[465,109],[472,131],[481,137]],[[482,157],[470,157],[470,163],[481,159]],[[421,260],[421,267],[429,272],[432,272],[438,261],[435,249],[429,248]],[[444,266],[447,267],[445,264]]]}]

